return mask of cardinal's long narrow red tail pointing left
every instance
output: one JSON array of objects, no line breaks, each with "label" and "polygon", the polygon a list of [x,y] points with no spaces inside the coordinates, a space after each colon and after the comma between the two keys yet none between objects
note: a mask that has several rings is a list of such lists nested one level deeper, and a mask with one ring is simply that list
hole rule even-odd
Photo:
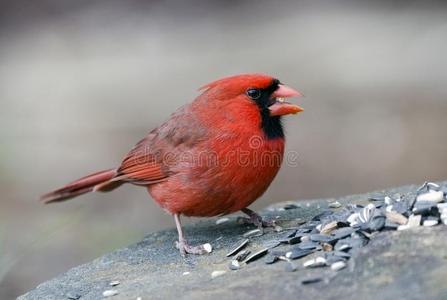
[{"label": "cardinal's long narrow red tail pointing left", "polygon": [[66,186],[43,195],[40,199],[45,203],[64,201],[92,191],[110,191],[122,184],[120,181],[112,181],[116,175],[115,169],[97,172]]}]

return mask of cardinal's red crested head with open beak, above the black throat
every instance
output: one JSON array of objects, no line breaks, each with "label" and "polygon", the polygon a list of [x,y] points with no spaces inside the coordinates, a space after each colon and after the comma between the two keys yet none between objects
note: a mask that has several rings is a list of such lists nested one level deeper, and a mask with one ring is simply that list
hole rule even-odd
[{"label": "cardinal's red crested head with open beak, above the black throat", "polygon": [[214,99],[246,100],[271,117],[296,114],[303,109],[286,102],[286,98],[300,97],[300,92],[282,84],[278,79],[263,74],[242,74],[216,80],[201,88]]}]

